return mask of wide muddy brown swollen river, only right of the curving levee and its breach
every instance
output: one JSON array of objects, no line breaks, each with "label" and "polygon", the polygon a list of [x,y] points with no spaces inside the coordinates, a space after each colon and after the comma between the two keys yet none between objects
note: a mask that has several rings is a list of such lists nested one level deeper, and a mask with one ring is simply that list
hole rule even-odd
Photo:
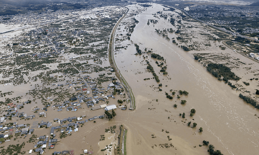
[{"label": "wide muddy brown swollen river, only right of the curving levee and its breach", "polygon": [[[155,33],[155,28],[171,28],[170,23],[159,20],[154,27],[146,24],[148,19],[154,19],[151,14],[160,10],[161,7],[157,6],[137,15],[135,18],[139,23],[130,38],[133,44],[125,40],[125,45],[131,45],[115,55],[117,66],[131,86],[137,105],[125,121],[125,126],[129,129],[127,154],[208,154],[207,147],[199,147],[203,140],[209,141],[215,150],[220,150],[225,155],[256,154],[259,150],[259,129],[257,116],[254,115],[258,115],[258,110],[244,103],[238,97],[239,92],[212,77],[194,60],[191,52],[184,52],[172,41]],[[143,59],[142,55],[134,55],[134,43],[142,51],[144,48],[152,48],[156,54],[166,59],[168,75],[159,75],[159,83],[163,84],[162,91],[156,89],[159,83],[154,79],[143,80],[153,77],[146,72],[145,60],[159,74],[160,68],[155,64],[157,60],[150,56]],[[177,99],[176,92],[174,99],[169,100],[165,92],[170,94],[170,89],[186,90],[189,95],[182,95]],[[182,106],[180,100],[186,100],[186,105]],[[178,107],[174,108],[174,104],[178,104]],[[190,117],[192,108],[195,108],[196,114]],[[183,112],[186,114],[185,119],[179,117],[179,113]],[[188,121],[197,123],[197,127],[188,127]],[[199,133],[200,127],[203,128],[202,133]],[[169,133],[165,133],[166,130]],[[152,134],[156,137],[152,138]],[[168,140],[167,135],[172,140]],[[172,143],[174,147],[159,146],[165,143]]]}]

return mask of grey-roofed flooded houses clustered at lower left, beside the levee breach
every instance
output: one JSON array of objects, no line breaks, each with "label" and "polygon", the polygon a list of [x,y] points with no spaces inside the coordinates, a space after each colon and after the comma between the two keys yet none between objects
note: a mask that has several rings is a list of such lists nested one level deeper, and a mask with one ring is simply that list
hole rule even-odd
[{"label": "grey-roofed flooded houses clustered at lower left, beside the levee breach", "polygon": [[[89,75],[85,75],[83,78],[89,79]],[[70,100],[67,100],[62,104],[53,105],[52,108],[56,108],[57,111],[62,111],[62,109],[64,109],[64,108],[66,108],[67,111],[77,111],[77,109],[82,108],[81,104],[84,102],[86,103],[87,107],[91,108],[92,110],[104,108],[104,110],[109,111],[109,110],[117,108],[117,106],[115,104],[108,105],[108,106],[106,104],[96,106],[96,104],[98,104],[99,101],[105,101],[105,99],[108,100],[109,98],[115,98],[113,95],[104,96],[104,91],[121,89],[122,87],[120,86],[119,82],[116,82],[115,84],[113,84],[113,83],[109,84],[107,87],[107,90],[105,90],[105,88],[100,88],[100,92],[99,92],[99,89],[97,88],[97,84],[95,82],[86,82],[84,84],[84,82],[81,80],[82,79],[80,77],[77,79],[77,81],[81,82],[81,83],[79,82],[80,84],[83,84],[82,89],[77,89],[77,91],[82,91],[81,93],[77,93],[77,96],[70,98]],[[69,85],[72,84],[74,86],[74,85],[77,85],[78,82],[72,82],[70,84],[70,81],[68,81],[68,84]],[[58,85],[58,86],[62,86],[62,85]],[[92,90],[92,95],[93,95],[92,97],[87,96],[87,94],[90,94],[90,91],[87,90],[88,88],[91,88],[91,90]],[[98,97],[98,95],[101,95],[101,97]],[[51,98],[51,97],[48,97],[47,99],[50,101],[53,100],[53,98]],[[28,101],[24,102],[24,104],[26,104],[27,102]],[[35,115],[27,116],[27,114],[25,114],[24,112],[18,113],[17,110],[19,108],[23,108],[24,104],[21,104],[21,105],[15,105],[13,103],[8,104],[7,106],[9,109],[7,110],[7,114],[5,115],[5,117],[1,117],[0,123],[4,123],[8,117],[19,117],[19,118],[24,118],[25,120],[35,118]],[[48,106],[50,106],[50,104],[47,105],[46,107],[41,108],[41,110],[47,111]],[[34,111],[34,113],[37,113],[39,110],[40,110],[40,108],[34,108],[32,111]],[[40,112],[39,116],[46,117],[46,112]],[[50,128],[50,135],[53,135],[53,137],[55,137],[56,134],[54,134],[54,133],[57,130],[60,131],[60,133],[71,133],[73,131],[77,132],[79,129],[78,126],[80,124],[87,123],[88,121],[93,121],[95,119],[102,119],[102,118],[104,118],[104,115],[94,116],[92,118],[83,120],[84,117],[86,117],[86,116],[83,115],[81,117],[68,117],[65,119],[56,118],[56,119],[54,119],[54,122],[58,122],[58,124],[60,124],[60,125],[55,126],[55,127],[52,126],[51,122],[41,121],[40,123],[38,123],[38,121],[37,121],[37,122],[33,123],[32,128],[34,128],[34,127]],[[64,123],[66,123],[66,124],[64,124]],[[34,132],[34,129],[30,129],[30,126],[27,126],[26,124],[18,125],[17,122],[15,122],[10,127],[3,127],[2,125],[0,125],[0,131],[4,131],[4,133],[5,133],[5,134],[1,134],[0,138],[7,138],[9,135],[12,135],[13,128],[16,128],[15,133],[21,133],[22,135],[31,134]],[[49,139],[48,136],[40,136],[38,139],[39,139],[39,141],[35,145],[35,152],[38,152],[39,154],[43,154],[44,149],[47,147],[49,149],[53,149],[55,147],[55,142],[58,142],[58,139]],[[9,141],[9,140],[7,140],[7,141]],[[32,152],[33,152],[33,150],[30,150],[29,154],[31,154]],[[93,154],[92,151],[88,152],[87,150],[86,151],[84,150],[84,153]],[[73,152],[73,150],[71,150],[71,151],[64,150],[61,152],[54,152],[54,154],[73,155],[74,152]]]}]

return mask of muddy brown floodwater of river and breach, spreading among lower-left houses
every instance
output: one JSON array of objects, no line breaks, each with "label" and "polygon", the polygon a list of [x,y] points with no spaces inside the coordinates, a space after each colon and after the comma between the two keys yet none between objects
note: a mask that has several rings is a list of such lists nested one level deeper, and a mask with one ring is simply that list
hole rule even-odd
[{"label": "muddy brown floodwater of river and breach, spreading among lower-left houses", "polygon": [[[136,9],[132,7],[130,9]],[[54,150],[46,150],[46,154],[52,154],[54,151],[74,150],[76,154],[82,154],[84,149],[94,151],[94,154],[104,154],[99,150],[104,146],[117,143],[119,133],[119,125],[123,124],[128,129],[127,132],[127,154],[204,154],[207,155],[207,147],[199,147],[202,141],[209,141],[214,145],[215,150],[220,150],[225,155],[238,155],[238,154],[257,154],[258,152],[258,120],[255,114],[259,115],[258,110],[246,104],[238,97],[239,92],[232,90],[223,82],[219,82],[214,78],[206,69],[197,61],[194,60],[192,51],[184,52],[172,40],[167,41],[162,36],[155,33],[155,28],[162,30],[163,28],[173,28],[170,23],[164,22],[163,19],[154,18],[152,13],[163,10],[162,6],[154,4],[153,8],[147,8],[142,14],[137,15],[135,18],[139,23],[134,28],[131,35],[131,40],[123,41],[127,45],[127,49],[121,49],[116,52],[115,61],[119,67],[123,77],[131,86],[132,91],[136,98],[135,111],[122,111],[116,109],[117,116],[115,119],[108,121],[107,119],[96,119],[96,123],[89,121],[79,127],[78,132],[72,132],[70,136],[60,139],[60,131],[56,132],[56,138],[61,141],[57,143]],[[166,11],[163,11],[166,12]],[[176,13],[174,13],[176,14]],[[156,19],[159,22],[153,26],[148,26],[146,23],[148,19]],[[124,28],[121,28],[123,30]],[[174,29],[174,28],[173,28]],[[176,29],[174,29],[176,30]],[[118,32],[123,33],[123,32]],[[127,33],[126,31],[124,33]],[[169,38],[176,37],[172,33],[168,34]],[[154,67],[155,73],[159,75],[159,79],[163,86],[162,91],[157,89],[158,84],[155,82],[153,75],[146,71],[146,62],[142,55],[134,55],[136,48],[134,43],[144,48],[153,49],[153,51],[166,59],[168,75],[159,75],[160,68],[155,64],[155,59],[150,55],[146,58]],[[232,50],[226,49],[224,52],[231,52]],[[222,52],[222,51],[220,51]],[[193,52],[195,53],[195,51]],[[239,59],[241,59],[239,57]],[[250,60],[245,60],[249,64]],[[108,63],[108,62],[106,62]],[[251,63],[251,62],[250,62]],[[258,68],[258,64],[255,67]],[[36,73],[35,73],[36,74]],[[242,77],[243,73],[237,73]],[[93,75],[94,76],[94,75]],[[246,75],[247,76],[247,75]],[[248,76],[247,76],[248,77]],[[143,80],[144,78],[151,78],[150,80]],[[28,80],[27,78],[25,79]],[[32,82],[31,87],[23,88],[25,84],[19,86],[1,86],[1,89],[11,91],[16,89],[16,95],[22,95],[22,92],[27,92],[35,87],[38,82]],[[108,82],[107,82],[108,84]],[[167,87],[166,87],[167,85]],[[28,86],[28,84],[27,84]],[[170,94],[170,90],[186,90],[189,92],[188,96],[181,95],[180,99],[174,95],[173,100],[166,98],[165,92]],[[71,90],[72,92],[72,90]],[[111,92],[109,92],[111,93]],[[32,97],[24,96],[22,100],[32,100]],[[116,95],[115,99],[109,99],[109,104],[117,104],[118,99],[123,99],[121,96]],[[158,101],[156,101],[156,99]],[[182,106],[181,100],[186,100],[186,104]],[[38,106],[42,108],[40,99],[36,103],[32,103],[32,108]],[[104,104],[101,101],[99,104]],[[124,104],[124,103],[123,103]],[[178,107],[174,108],[173,105],[177,104]],[[86,104],[81,104],[82,108],[76,112],[66,111],[63,109],[61,112],[53,110],[52,107],[48,108],[47,117],[40,117],[28,121],[19,120],[19,124],[30,123],[31,128],[37,122],[52,121],[52,118],[68,118],[80,117],[86,115],[84,119],[89,119],[94,116],[103,115],[104,110],[90,111]],[[118,104],[117,104],[118,105]],[[129,106],[129,105],[127,105]],[[33,113],[32,108],[25,108],[19,112],[27,113],[27,115],[35,114],[36,118],[39,113]],[[190,110],[195,108],[196,113],[190,117]],[[185,113],[186,118],[179,117],[179,113]],[[194,120],[193,120],[194,119]],[[15,121],[14,119],[12,121]],[[191,128],[187,123],[197,123],[197,127]],[[60,124],[54,123],[53,126]],[[115,134],[104,133],[106,128],[117,125]],[[192,125],[191,125],[192,126]],[[203,128],[203,132],[199,133],[199,128]],[[31,129],[30,128],[30,129]],[[34,128],[33,134],[37,137],[41,135],[49,135],[50,129]],[[110,134],[110,135],[109,135]],[[105,135],[104,141],[100,142],[100,135]],[[169,138],[167,137],[169,136]],[[108,139],[110,138],[110,139]],[[113,139],[114,138],[114,139]],[[6,142],[5,145],[18,144],[21,139],[11,142]],[[24,141],[28,141],[28,136],[24,137]],[[106,143],[107,142],[107,143]],[[26,144],[23,150],[28,151],[33,149],[37,140],[32,144]],[[170,145],[171,144],[171,145]],[[166,146],[170,146],[167,147]],[[113,154],[113,150],[107,152]],[[106,153],[106,154],[107,154]]]}]

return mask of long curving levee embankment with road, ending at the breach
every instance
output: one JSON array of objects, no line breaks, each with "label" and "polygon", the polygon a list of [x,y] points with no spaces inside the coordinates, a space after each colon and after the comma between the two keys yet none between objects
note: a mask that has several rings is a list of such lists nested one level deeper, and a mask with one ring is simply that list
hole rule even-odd
[{"label": "long curving levee embankment with road, ending at the breach", "polygon": [[[127,8],[127,7],[126,7]],[[108,48],[108,57],[109,57],[109,62],[111,67],[113,67],[113,69],[115,69],[115,75],[117,77],[118,80],[120,80],[120,82],[122,83],[122,85],[125,87],[125,89],[128,92],[128,96],[129,96],[129,100],[130,100],[130,108],[131,110],[135,109],[135,98],[134,95],[132,93],[132,90],[129,86],[129,84],[126,82],[126,80],[123,78],[123,76],[121,75],[121,72],[119,71],[115,60],[114,60],[114,40],[115,40],[115,32],[119,26],[119,24],[121,23],[121,21],[125,18],[125,16],[127,15],[129,11],[129,8],[127,8],[127,11],[124,13],[124,15],[119,19],[119,21],[116,23],[116,25],[113,28],[113,31],[111,33],[111,38],[110,38],[110,42],[109,42],[109,48]]]}]

